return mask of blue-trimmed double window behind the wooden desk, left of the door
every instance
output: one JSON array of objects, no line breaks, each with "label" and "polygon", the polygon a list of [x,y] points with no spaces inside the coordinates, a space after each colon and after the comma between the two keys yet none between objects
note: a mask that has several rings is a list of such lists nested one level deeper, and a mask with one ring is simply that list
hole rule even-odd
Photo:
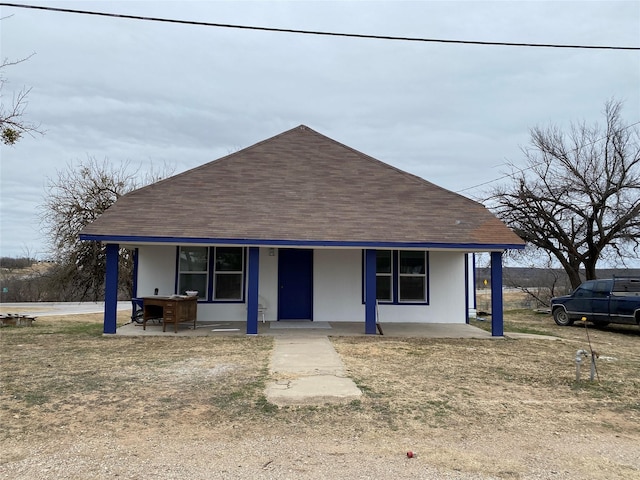
[{"label": "blue-trimmed double window behind the wooden desk, left of the door", "polygon": [[244,247],[195,247],[178,249],[177,291],[197,290],[200,300],[244,300]]}]

